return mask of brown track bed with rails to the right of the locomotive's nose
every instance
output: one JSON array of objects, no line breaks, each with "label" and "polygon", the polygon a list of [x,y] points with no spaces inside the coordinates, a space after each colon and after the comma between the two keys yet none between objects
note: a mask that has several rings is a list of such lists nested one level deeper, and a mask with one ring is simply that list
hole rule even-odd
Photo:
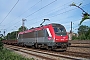
[{"label": "brown track bed with rails to the right of the locomotive's nose", "polygon": [[70,40],[67,51],[90,54],[90,40]]}]

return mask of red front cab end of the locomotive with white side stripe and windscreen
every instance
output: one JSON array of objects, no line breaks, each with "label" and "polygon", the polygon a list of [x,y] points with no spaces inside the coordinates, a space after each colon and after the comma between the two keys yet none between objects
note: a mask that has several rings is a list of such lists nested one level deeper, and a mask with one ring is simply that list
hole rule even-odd
[{"label": "red front cab end of the locomotive with white side stripe and windscreen", "polygon": [[61,24],[52,24],[49,25],[49,29],[47,29],[49,34],[49,39],[53,40],[53,48],[58,49],[66,49],[68,46],[68,35],[66,29]]}]

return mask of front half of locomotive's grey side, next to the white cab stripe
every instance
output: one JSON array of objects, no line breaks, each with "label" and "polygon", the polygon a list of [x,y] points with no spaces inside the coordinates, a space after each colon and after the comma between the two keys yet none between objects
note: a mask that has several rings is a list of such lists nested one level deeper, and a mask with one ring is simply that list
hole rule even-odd
[{"label": "front half of locomotive's grey side, next to the white cab stripe", "polygon": [[49,34],[46,29],[38,31],[37,43],[52,46],[53,39],[49,39]]}]

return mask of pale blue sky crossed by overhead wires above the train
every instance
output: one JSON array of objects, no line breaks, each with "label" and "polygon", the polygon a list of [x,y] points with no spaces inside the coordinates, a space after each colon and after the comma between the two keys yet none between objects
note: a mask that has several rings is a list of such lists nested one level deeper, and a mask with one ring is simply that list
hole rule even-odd
[{"label": "pale blue sky crossed by overhead wires above the train", "polygon": [[[70,31],[70,22],[72,21],[73,32],[77,32],[78,24],[82,19],[82,11],[69,5],[73,2],[77,5],[82,3],[81,7],[90,13],[90,0],[19,0],[13,8],[17,1],[0,0],[1,33],[4,30],[6,33],[18,30],[22,25],[22,19],[26,19],[25,26],[31,28],[40,26],[45,18],[50,21],[46,21],[44,25],[59,23],[65,26],[67,32]],[[82,25],[90,26],[90,20],[84,21]]]}]

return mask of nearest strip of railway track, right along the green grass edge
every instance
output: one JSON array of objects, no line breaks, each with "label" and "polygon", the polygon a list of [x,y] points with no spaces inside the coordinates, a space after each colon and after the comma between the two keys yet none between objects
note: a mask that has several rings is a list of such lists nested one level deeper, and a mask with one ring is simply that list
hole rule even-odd
[{"label": "nearest strip of railway track, right along the green grass edge", "polygon": [[36,56],[36,57],[38,57],[40,59],[55,60],[55,59],[52,59],[52,58],[48,58],[48,57],[38,55],[37,53],[35,53],[35,51],[28,50],[27,48],[18,47],[18,46],[11,46],[11,45],[10,46],[5,46],[5,47],[8,48],[8,49],[14,50],[14,51],[18,51],[18,52],[22,52],[22,53],[29,54],[29,55],[32,55],[32,56]]}]

